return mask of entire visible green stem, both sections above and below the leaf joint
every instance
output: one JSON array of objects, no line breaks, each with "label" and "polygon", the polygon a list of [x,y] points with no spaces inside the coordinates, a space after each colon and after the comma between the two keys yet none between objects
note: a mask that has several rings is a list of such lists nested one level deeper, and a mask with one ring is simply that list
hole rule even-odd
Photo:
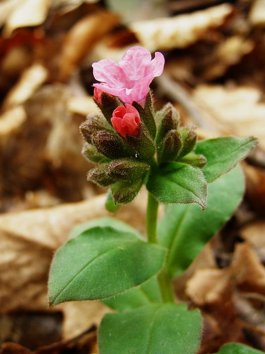
[{"label": "entire visible green stem, both sections above and below the leaf joint", "polygon": [[[156,224],[157,224],[158,202],[148,193],[147,212],[146,212],[146,233],[149,243],[157,244]],[[164,302],[174,302],[174,292],[172,282],[168,275],[166,266],[163,267],[157,276],[160,292]]]}]

